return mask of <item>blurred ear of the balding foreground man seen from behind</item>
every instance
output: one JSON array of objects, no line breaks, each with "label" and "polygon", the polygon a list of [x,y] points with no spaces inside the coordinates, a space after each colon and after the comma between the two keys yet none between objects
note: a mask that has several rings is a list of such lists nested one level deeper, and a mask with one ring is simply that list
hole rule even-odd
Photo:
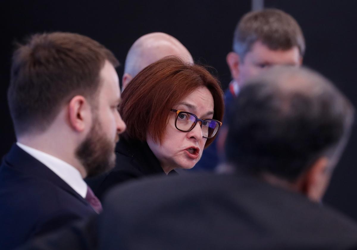
[{"label": "blurred ear of the balding foreground man seen from behind", "polygon": [[313,201],[321,201],[330,182],[331,170],[327,157],[317,159],[302,177],[302,192]]}]

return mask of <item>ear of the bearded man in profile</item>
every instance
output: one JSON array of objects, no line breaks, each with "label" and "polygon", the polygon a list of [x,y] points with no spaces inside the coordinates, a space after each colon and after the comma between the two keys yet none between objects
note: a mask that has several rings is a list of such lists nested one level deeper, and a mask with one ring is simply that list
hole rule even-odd
[{"label": "ear of the bearded man in profile", "polygon": [[68,105],[69,124],[77,132],[82,132],[91,122],[91,107],[84,96],[76,95]]}]

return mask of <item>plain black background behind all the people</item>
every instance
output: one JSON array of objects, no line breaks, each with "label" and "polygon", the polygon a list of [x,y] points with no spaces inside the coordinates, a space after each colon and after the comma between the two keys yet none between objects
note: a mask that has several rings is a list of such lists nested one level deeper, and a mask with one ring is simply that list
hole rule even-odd
[{"label": "plain black background behind all the people", "polygon": [[[266,0],[296,18],[305,34],[304,64],[330,78],[357,106],[357,1]],[[112,50],[122,64],[141,35],[161,31],[175,36],[196,62],[213,66],[223,88],[230,81],[225,62],[237,21],[251,9],[242,1],[2,1],[1,140],[4,155],[15,141],[6,102],[14,41],[43,31],[70,31],[90,36]],[[122,76],[123,67],[118,68]],[[356,126],[355,126],[356,127]],[[357,220],[357,130],[332,178],[325,202]]]}]

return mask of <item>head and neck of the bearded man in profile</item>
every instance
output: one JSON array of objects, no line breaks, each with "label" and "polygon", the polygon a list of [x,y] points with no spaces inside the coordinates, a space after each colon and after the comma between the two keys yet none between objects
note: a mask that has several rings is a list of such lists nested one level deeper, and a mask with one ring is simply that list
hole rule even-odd
[{"label": "head and neck of the bearded man in profile", "polygon": [[7,93],[17,141],[82,176],[114,166],[119,79],[114,55],[79,34],[36,34],[14,52]]}]

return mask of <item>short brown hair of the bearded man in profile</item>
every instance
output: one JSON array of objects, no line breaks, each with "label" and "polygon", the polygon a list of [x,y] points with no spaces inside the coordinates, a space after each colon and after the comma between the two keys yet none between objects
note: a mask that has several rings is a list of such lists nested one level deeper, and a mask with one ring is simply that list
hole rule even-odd
[{"label": "short brown hair of the bearded man in profile", "polygon": [[103,45],[74,33],[44,33],[18,45],[7,99],[15,133],[45,130],[75,95],[93,97],[105,60],[119,65]]}]

